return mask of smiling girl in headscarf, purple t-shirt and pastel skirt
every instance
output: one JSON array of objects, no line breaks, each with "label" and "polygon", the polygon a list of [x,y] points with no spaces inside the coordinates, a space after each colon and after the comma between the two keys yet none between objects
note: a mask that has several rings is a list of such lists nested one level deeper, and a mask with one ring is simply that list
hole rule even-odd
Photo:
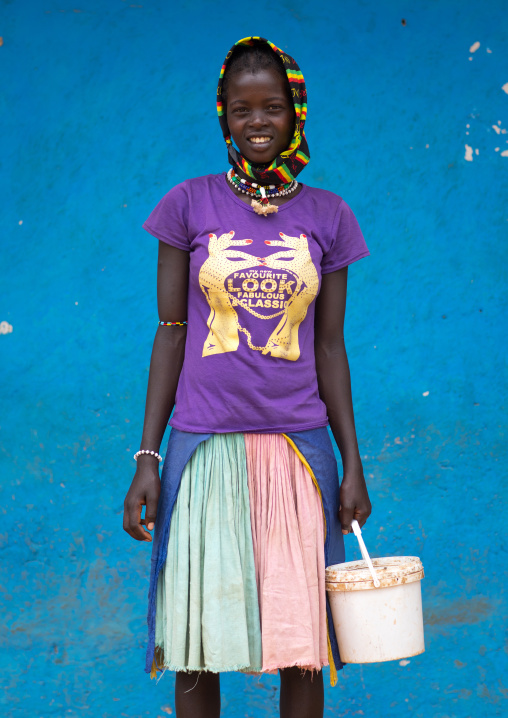
[{"label": "smiling girl in headscarf, purple t-shirt and pastel skirt", "polygon": [[334,684],[342,667],[325,565],[371,511],[343,338],[347,267],[368,250],[340,197],[295,179],[306,100],[292,57],[237,42],[217,90],[232,168],[144,224],[160,326],[124,528],[154,529],[146,668],[177,672],[178,718],[220,715],[223,671],[279,671],[280,715],[319,718],[322,668]]}]

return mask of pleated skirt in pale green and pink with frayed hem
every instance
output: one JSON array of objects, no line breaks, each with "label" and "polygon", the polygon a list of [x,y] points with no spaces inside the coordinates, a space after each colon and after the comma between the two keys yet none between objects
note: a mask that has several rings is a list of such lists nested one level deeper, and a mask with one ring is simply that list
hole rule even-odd
[{"label": "pleated skirt in pale green and pink with frayed hem", "polygon": [[284,435],[215,434],[199,444],[157,582],[157,665],[328,665],[324,538],[319,490]]}]

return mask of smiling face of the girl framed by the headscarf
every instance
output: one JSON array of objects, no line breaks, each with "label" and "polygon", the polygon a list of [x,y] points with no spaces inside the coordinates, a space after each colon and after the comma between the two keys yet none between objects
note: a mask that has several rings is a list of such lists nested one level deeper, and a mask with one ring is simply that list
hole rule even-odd
[{"label": "smiling face of the girl framed by the headscarf", "polygon": [[276,70],[244,70],[228,78],[226,111],[233,141],[249,162],[268,164],[288,149],[295,111]]}]

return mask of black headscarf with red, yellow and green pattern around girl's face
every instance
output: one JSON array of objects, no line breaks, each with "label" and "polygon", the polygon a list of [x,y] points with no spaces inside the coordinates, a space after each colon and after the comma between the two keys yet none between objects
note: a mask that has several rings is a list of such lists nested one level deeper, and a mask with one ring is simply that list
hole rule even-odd
[{"label": "black headscarf with red, yellow and green pattern around girl's face", "polygon": [[[280,57],[289,80],[291,95],[295,106],[295,131],[291,144],[285,152],[281,152],[269,165],[253,165],[243,157],[233,146],[231,133],[228,127],[226,106],[222,101],[222,82],[227,64],[237,45],[254,45],[257,42],[266,42],[269,47]],[[222,128],[222,133],[228,146],[229,162],[254,180],[261,184],[281,184],[291,182],[296,175],[303,170],[310,159],[307,140],[305,139],[305,118],[307,117],[307,89],[305,80],[300,68],[293,58],[283,52],[276,45],[264,37],[244,37],[243,40],[235,42],[226,55],[222,70],[220,72],[219,86],[217,87],[217,113]]]}]

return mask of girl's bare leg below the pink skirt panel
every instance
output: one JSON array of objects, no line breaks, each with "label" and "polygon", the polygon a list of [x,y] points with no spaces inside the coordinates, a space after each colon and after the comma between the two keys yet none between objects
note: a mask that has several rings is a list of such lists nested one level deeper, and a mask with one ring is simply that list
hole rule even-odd
[{"label": "girl's bare leg below the pink skirt panel", "polygon": [[323,672],[280,671],[280,718],[323,718]]}]

